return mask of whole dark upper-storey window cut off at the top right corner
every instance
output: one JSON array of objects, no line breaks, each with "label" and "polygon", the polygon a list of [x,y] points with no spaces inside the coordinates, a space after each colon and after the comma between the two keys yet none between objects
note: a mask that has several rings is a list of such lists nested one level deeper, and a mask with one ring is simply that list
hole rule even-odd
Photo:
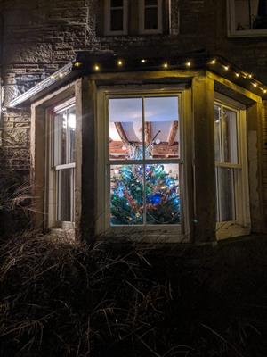
[{"label": "whole dark upper-storey window cut off at the top right corner", "polygon": [[267,36],[266,0],[228,0],[230,36]]}]

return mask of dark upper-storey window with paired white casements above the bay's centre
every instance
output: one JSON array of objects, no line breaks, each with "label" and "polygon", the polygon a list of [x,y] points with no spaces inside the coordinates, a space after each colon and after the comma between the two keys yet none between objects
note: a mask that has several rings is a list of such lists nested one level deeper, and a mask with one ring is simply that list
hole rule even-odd
[{"label": "dark upper-storey window with paired white casements above the bay's centre", "polygon": [[163,33],[163,16],[167,19],[169,8],[164,6],[164,1],[105,0],[105,35]]}]

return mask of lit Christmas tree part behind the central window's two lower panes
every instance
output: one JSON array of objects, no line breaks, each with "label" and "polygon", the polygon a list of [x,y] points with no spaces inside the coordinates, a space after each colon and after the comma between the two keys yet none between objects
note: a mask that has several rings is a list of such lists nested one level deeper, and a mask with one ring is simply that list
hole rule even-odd
[{"label": "lit Christmas tree part behind the central window's two lower panes", "polygon": [[178,181],[166,172],[162,164],[120,166],[118,170],[114,170],[111,188],[113,225],[143,224],[144,201],[147,224],[180,222]]}]

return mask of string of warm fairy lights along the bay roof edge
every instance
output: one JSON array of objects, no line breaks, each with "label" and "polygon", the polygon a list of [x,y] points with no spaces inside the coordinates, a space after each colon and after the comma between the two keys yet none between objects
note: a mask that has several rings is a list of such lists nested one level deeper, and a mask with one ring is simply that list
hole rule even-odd
[{"label": "string of warm fairy lights along the bay roof edge", "polygon": [[[118,58],[116,60],[114,60],[115,62],[113,62],[113,66],[115,66],[115,68],[117,67],[117,69],[126,69],[126,61],[122,58]],[[135,61],[135,60],[134,60]],[[150,66],[150,64],[153,64],[153,69],[155,69],[155,59],[153,59],[153,61],[151,59],[146,59],[146,58],[142,58],[140,60],[136,60],[137,63],[135,63],[135,65],[138,65],[138,62],[140,63],[140,65],[145,69],[145,65]],[[110,64],[110,63],[109,63]],[[222,62],[221,60],[219,60],[218,58],[211,58],[208,59],[205,63],[209,68],[215,68],[217,67],[217,70],[222,70],[223,72],[225,72],[225,76],[226,74],[228,75],[233,75],[236,79],[243,79],[246,80],[247,83],[249,83],[249,85],[253,88],[259,89],[263,92],[263,94],[267,94],[267,87],[263,86],[263,83],[260,82],[259,80],[255,79],[253,73],[248,73],[246,71],[241,71],[238,70],[237,67],[232,66],[229,63],[226,62]],[[203,65],[202,64],[202,65]],[[85,62],[73,62],[73,67],[74,69],[84,69],[85,68]],[[179,67],[179,69],[184,68],[184,69],[193,69],[194,68],[194,60],[187,60],[186,62],[183,62],[182,64],[180,63],[178,64],[174,64],[173,60],[172,62],[158,62],[157,63],[157,68],[159,69],[163,69],[163,70],[174,70],[176,67],[176,69]],[[94,62],[94,63],[89,63],[89,67],[87,68],[87,70],[89,71],[93,71],[93,72],[101,72],[104,71],[105,68],[104,66],[101,64],[101,62]],[[57,74],[57,76],[53,75],[51,76],[51,78],[53,79],[61,79],[63,78],[65,75],[67,75],[68,73],[66,72],[60,72]]]}]

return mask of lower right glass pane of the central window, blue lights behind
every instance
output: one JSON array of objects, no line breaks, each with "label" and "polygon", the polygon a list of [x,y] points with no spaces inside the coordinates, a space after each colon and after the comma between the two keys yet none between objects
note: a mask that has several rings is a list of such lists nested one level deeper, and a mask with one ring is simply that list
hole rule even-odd
[{"label": "lower right glass pane of the central window, blue lights behind", "polygon": [[178,164],[146,165],[146,221],[177,224],[181,219]]}]

